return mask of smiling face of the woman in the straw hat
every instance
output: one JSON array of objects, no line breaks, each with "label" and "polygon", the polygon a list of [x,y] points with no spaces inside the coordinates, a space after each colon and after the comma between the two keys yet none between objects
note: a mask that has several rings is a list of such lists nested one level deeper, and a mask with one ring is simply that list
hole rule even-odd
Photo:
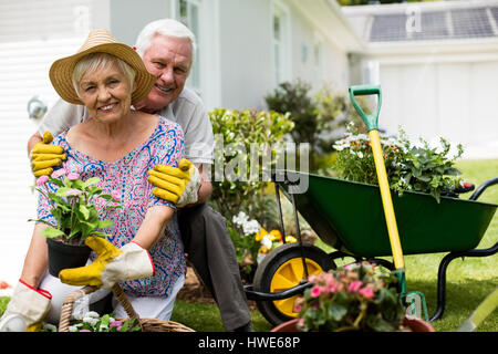
[{"label": "smiling face of the woman in the straw hat", "polygon": [[117,63],[111,69],[84,73],[79,88],[80,100],[98,122],[113,123],[129,112],[132,87]]}]

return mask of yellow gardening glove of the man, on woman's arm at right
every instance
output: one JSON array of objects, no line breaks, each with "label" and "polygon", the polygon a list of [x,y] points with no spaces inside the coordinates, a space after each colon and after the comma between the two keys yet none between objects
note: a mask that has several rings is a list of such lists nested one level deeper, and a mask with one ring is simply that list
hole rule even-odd
[{"label": "yellow gardening glove of the man, on woman's arm at right", "polygon": [[181,158],[178,167],[156,165],[148,171],[148,181],[156,188],[153,195],[176,204],[178,208],[197,202],[200,174],[197,167]]}]

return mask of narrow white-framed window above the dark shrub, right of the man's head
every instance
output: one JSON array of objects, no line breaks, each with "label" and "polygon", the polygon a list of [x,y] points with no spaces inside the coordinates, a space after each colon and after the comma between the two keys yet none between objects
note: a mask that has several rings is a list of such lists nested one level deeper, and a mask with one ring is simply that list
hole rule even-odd
[{"label": "narrow white-framed window above the dark shrub, right of the man's head", "polygon": [[289,81],[289,12],[277,1],[272,6],[273,66],[276,85]]}]

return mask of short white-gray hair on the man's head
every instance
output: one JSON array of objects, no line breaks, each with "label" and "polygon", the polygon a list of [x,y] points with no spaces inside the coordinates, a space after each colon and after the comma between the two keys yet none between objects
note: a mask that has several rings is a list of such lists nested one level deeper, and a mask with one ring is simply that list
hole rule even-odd
[{"label": "short white-gray hair on the man's head", "polygon": [[185,24],[174,19],[156,20],[144,27],[135,43],[138,55],[144,55],[145,51],[151,46],[154,35],[156,34],[186,38],[190,40],[191,62],[194,63],[197,50],[196,37]]}]

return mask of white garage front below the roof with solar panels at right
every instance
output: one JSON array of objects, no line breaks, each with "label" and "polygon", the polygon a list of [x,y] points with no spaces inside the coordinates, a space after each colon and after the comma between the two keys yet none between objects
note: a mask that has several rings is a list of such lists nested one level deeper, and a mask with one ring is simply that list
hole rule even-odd
[{"label": "white garage front below the roof with solar panels at right", "polygon": [[498,54],[432,54],[380,60],[380,126],[412,137],[461,143],[465,158],[498,157]]}]

